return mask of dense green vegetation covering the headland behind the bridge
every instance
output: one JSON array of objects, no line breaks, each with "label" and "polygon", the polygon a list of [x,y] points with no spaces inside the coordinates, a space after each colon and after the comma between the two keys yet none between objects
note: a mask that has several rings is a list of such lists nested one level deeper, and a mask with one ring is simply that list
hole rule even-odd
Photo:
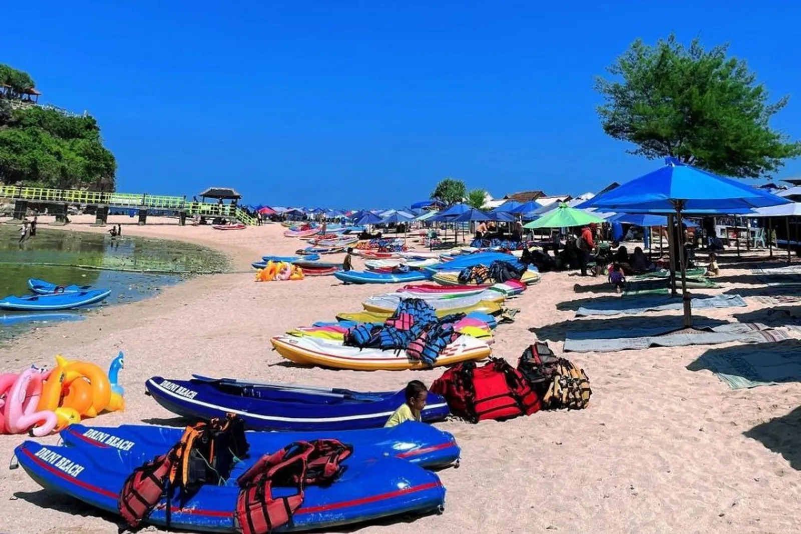
[{"label": "dense green vegetation covering the headland behind the bridge", "polygon": [[0,98],[0,182],[114,191],[116,169],[95,118]]}]

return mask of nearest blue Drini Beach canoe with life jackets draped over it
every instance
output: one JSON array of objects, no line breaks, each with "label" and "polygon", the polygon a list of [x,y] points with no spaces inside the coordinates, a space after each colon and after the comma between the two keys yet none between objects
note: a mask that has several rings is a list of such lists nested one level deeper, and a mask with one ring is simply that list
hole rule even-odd
[{"label": "nearest blue Drini Beach canoe with life jackets draped over it", "polygon": [[[203,485],[185,500],[162,500],[147,516],[147,523],[166,526],[169,517],[170,527],[175,530],[237,532],[232,513],[239,496],[236,478],[260,456],[276,450],[251,448],[250,458],[225,474],[226,484]],[[72,496],[115,516],[119,516],[117,501],[127,476],[153,459],[152,452],[120,454],[117,448],[59,447],[30,440],[14,453],[28,475],[46,490]],[[329,486],[305,488],[304,503],[292,521],[276,532],[334,528],[398,514],[430,513],[441,510],[445,503],[445,488],[437,475],[406,460],[371,458],[354,448],[343,466],[343,474]],[[272,495],[280,498],[296,491],[272,488]]]}]

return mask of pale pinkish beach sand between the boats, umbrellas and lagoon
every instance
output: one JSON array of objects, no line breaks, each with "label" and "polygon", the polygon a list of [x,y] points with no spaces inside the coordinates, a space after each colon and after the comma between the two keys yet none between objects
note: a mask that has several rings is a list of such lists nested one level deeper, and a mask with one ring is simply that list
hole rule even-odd
[{"label": "pale pinkish beach sand between the boats, umbrellas and lagoon", "polygon": [[[80,221],[74,218],[73,230],[106,231]],[[217,247],[242,269],[261,255],[291,254],[301,245],[284,238],[279,225],[222,232],[179,227],[171,219],[146,227],[131,225],[127,217],[119,222],[127,223],[126,235]],[[721,279],[733,280],[727,288],[747,287],[736,276],[750,271],[722,267]],[[550,325],[550,337],[559,339],[561,333],[563,339],[577,324],[565,303],[593,296],[574,292],[578,281],[599,280],[546,273],[542,283],[513,301],[521,312],[515,323],[497,329],[495,355],[515,363],[535,339],[532,327]],[[117,351],[125,351],[120,377],[127,410],[90,421],[102,425],[173,420],[143,395],[151,375],[199,372],[361,390],[400,389],[414,378],[430,384],[441,369],[366,373],[286,367],[271,350],[272,335],[359,310],[368,295],[394,289],[344,286],[332,277],[254,283],[250,274],[204,276],[153,299],[26,335],[0,349],[0,371],[50,364],[57,353],[105,367]],[[749,289],[753,293],[754,287]],[[760,306],[749,302],[747,309],[696,315],[729,319]],[[647,315],[657,314],[646,314],[643,323]],[[611,325],[618,319],[582,320]],[[561,341],[551,347],[562,351]],[[457,436],[463,453],[461,468],[440,474],[448,489],[445,513],[360,532],[799,532],[801,384],[731,391],[709,371],[686,369],[706,348],[568,354],[590,376],[589,409],[540,412],[505,423],[438,425]],[[774,418],[779,419],[767,429],[750,432]],[[0,457],[10,459],[22,440],[0,436]],[[44,492],[22,469],[0,470],[0,502],[0,532],[116,528],[113,517]]]}]

